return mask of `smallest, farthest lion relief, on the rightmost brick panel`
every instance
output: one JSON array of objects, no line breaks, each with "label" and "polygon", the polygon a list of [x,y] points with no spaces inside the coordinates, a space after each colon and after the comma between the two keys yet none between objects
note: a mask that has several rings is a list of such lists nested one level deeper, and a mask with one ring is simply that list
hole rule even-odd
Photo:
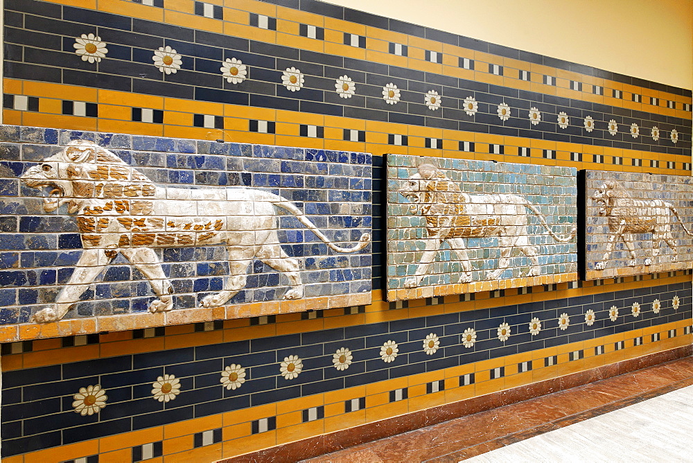
[{"label": "smallest, farthest lion relief, on the rightmost brick panel", "polygon": [[[688,236],[693,236],[686,228],[674,206],[663,200],[634,200],[629,192],[615,180],[607,180],[590,198],[597,204],[599,216],[606,217],[608,241],[602,260],[595,264],[595,270],[604,270],[611,257],[616,241],[623,241],[631,260],[630,267],[635,267],[635,234],[652,234],[651,256],[646,256],[644,265],[653,264],[653,259],[660,256],[660,243],[669,246],[669,261],[676,262],[678,250],[676,239],[672,234],[673,217],[676,217]],[[660,256],[662,259],[663,256]]]}]

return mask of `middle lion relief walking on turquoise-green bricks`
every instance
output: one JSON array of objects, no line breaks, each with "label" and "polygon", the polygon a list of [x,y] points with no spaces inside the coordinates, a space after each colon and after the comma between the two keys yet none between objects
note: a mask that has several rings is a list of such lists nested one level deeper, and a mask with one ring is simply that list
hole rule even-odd
[{"label": "middle lion relief walking on turquoise-green bricks", "polygon": [[498,238],[500,259],[498,268],[489,271],[486,279],[498,279],[508,268],[510,256],[515,248],[525,254],[531,263],[527,277],[540,274],[538,247],[529,242],[527,211],[534,214],[541,226],[559,243],[572,241],[577,233],[559,236],[547,225],[541,212],[532,203],[512,194],[468,194],[462,193],[459,185],[451,182],[441,169],[433,164],[421,164],[418,172],[403,180],[398,193],[411,202],[410,212],[426,218],[426,249],[416,268],[416,273],[407,277],[405,288],[421,285],[441,244],[446,241],[457,254],[462,265],[462,283],[472,281],[472,268],[464,238]]}]

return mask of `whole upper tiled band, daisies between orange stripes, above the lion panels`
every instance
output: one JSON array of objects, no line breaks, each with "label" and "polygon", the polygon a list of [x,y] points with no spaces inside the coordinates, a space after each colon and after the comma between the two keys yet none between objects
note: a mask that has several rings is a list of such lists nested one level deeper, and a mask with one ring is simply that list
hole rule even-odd
[{"label": "whole upper tiled band, daisies between orange stripes, above the lion panels", "polygon": [[689,90],[313,0],[247,0],[224,6],[222,19],[195,14],[192,0],[112,1],[119,7],[6,2],[6,121],[235,141],[250,131],[253,143],[574,167],[644,157],[690,171]]}]

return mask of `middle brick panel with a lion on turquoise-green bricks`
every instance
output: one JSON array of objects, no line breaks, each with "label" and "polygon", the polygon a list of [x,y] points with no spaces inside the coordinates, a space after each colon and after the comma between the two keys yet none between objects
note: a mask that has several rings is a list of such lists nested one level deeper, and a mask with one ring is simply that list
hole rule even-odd
[{"label": "middle brick panel with a lion on turquoise-green bricks", "polygon": [[577,280],[574,168],[387,156],[387,300]]}]

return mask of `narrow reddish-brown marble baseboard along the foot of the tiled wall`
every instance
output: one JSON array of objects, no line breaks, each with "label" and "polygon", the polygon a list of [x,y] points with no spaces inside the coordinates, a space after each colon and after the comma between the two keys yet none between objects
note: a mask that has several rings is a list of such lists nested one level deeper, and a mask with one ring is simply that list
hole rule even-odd
[{"label": "narrow reddish-brown marble baseboard along the foot of the tiled wall", "polygon": [[558,378],[538,381],[529,385],[493,392],[483,396],[473,397],[455,403],[447,403],[426,410],[419,410],[376,421],[374,423],[356,426],[354,428],[335,431],[334,433],[309,437],[296,442],[265,448],[261,451],[246,453],[238,457],[220,460],[221,463],[231,462],[297,462],[307,458],[317,457],[326,453],[340,451],[344,448],[365,444],[385,437],[392,437],[411,430],[425,428],[450,419],[491,410],[502,405],[518,403],[538,396],[552,394],[560,390],[593,383],[620,374],[659,365],[678,358],[693,354],[693,346],[687,345],[667,351],[651,353],[647,356],[622,360],[611,365],[604,365],[584,372],[559,376]]}]

